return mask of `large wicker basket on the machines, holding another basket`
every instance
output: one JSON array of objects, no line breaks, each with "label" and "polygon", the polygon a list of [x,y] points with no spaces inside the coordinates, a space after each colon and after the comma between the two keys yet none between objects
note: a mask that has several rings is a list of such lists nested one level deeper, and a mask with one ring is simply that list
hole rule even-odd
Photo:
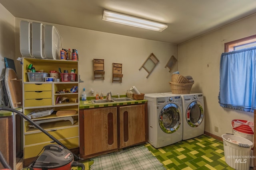
[{"label": "large wicker basket on the machines, holding another basket", "polygon": [[192,88],[192,83],[175,83],[175,82],[169,82],[171,89],[172,89],[172,94],[189,94],[190,90]]}]

